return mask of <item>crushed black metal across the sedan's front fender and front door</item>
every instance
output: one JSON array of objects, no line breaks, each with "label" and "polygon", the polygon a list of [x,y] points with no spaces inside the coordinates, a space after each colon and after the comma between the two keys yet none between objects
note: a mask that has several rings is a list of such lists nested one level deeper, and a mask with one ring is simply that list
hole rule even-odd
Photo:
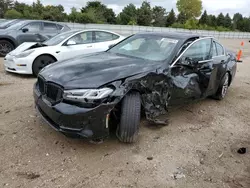
[{"label": "crushed black metal across the sedan's front fender and front door", "polygon": [[[201,76],[202,75],[202,76]],[[179,67],[137,74],[107,85],[114,87],[107,103],[115,102],[114,109],[120,112],[119,103],[129,92],[139,92],[146,119],[151,124],[168,125],[168,119],[159,118],[170,106],[183,105],[205,97],[207,78],[201,72],[183,71]],[[118,109],[116,108],[118,106]],[[119,116],[119,113],[117,113]]]}]

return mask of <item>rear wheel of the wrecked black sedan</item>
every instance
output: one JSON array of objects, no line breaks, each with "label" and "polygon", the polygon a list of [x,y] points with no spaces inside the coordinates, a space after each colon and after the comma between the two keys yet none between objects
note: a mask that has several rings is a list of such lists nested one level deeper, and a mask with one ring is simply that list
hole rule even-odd
[{"label": "rear wheel of the wrecked black sedan", "polygon": [[223,100],[227,94],[228,88],[229,88],[229,73],[227,72],[223,79],[220,82],[220,86],[216,92],[216,94],[213,96],[216,100]]}]

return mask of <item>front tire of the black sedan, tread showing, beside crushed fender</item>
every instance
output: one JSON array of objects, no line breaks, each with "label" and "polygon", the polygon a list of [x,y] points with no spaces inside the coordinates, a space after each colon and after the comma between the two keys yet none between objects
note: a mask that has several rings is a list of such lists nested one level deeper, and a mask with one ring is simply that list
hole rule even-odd
[{"label": "front tire of the black sedan, tread showing, beside crushed fender", "polygon": [[130,93],[122,101],[120,125],[117,137],[121,142],[133,143],[138,139],[141,120],[141,97],[139,93]]}]

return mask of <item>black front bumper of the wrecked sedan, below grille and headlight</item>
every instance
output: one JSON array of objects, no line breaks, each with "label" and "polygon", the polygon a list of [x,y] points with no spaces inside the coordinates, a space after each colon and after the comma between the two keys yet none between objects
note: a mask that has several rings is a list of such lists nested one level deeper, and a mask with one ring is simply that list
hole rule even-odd
[{"label": "black front bumper of the wrecked sedan, below grille and headlight", "polygon": [[36,88],[33,95],[38,113],[56,131],[66,136],[88,139],[109,136],[108,117],[114,104],[81,108],[62,101],[52,106]]}]

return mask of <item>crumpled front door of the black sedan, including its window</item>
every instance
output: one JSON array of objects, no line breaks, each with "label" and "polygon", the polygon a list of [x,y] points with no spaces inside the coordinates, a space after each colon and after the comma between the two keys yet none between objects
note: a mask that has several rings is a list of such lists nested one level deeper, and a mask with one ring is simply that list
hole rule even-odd
[{"label": "crumpled front door of the black sedan, including its window", "polygon": [[191,44],[171,67],[171,105],[183,104],[208,96],[215,83],[212,38]]}]

